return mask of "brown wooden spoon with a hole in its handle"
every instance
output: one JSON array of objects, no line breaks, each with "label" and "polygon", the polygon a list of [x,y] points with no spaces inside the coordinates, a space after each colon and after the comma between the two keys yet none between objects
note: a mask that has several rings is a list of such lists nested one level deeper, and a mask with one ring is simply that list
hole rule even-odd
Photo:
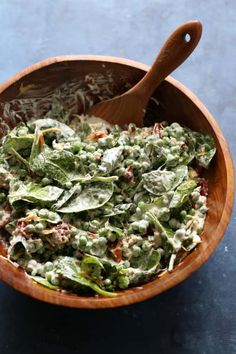
[{"label": "brown wooden spoon with a hole in its handle", "polygon": [[147,74],[120,96],[94,105],[88,115],[103,118],[112,124],[143,125],[149,98],[158,85],[192,53],[202,34],[199,21],[188,21],[178,27],[161,48]]}]

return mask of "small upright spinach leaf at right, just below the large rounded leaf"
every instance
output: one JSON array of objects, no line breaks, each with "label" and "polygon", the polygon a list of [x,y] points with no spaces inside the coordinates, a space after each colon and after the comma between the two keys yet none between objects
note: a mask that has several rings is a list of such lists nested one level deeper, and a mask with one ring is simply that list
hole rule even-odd
[{"label": "small upright spinach leaf at right, just below the large rounded leaf", "polygon": [[194,180],[183,182],[175,191],[170,202],[170,208],[180,208],[189,198],[190,194],[196,188],[197,184]]}]

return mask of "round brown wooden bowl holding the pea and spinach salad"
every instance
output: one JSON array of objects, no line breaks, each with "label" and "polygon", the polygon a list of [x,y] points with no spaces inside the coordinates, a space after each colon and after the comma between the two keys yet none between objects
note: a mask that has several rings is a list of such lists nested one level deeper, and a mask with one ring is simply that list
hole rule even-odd
[{"label": "round brown wooden bowl holding the pea and spinach salad", "polygon": [[[134,61],[102,56],[63,56],[44,60],[34,64],[6,81],[0,88],[0,103],[19,97],[22,87],[38,85],[42,92],[50,91],[71,79],[79,79],[84,75],[97,72],[106,74],[111,71],[117,83],[119,93],[124,92],[125,77],[132,85],[139,81],[148,66]],[[20,89],[21,88],[21,89]],[[29,90],[27,95],[33,95]],[[157,120],[177,121],[189,128],[211,134],[216,142],[217,154],[211,163],[206,178],[209,180],[209,197],[203,242],[197,246],[174,271],[161,278],[156,278],[140,287],[119,292],[116,298],[80,297],[73,294],[46,289],[33,282],[23,270],[16,268],[4,255],[6,250],[0,248],[0,278],[13,288],[36,299],[52,304],[76,308],[110,308],[129,305],[156,296],[177,285],[197,270],[212,254],[228,225],[233,207],[234,170],[230,152],[225,138],[212,115],[201,101],[185,86],[168,77],[156,90],[155,97],[159,101]],[[12,117],[8,117],[9,125],[14,125]],[[3,122],[0,133],[4,131]]]}]

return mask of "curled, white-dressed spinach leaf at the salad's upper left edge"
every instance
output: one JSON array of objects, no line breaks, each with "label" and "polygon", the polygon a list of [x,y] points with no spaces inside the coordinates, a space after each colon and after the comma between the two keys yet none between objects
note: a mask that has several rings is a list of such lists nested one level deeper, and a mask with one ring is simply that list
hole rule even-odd
[{"label": "curled, white-dressed spinach leaf at the salad's upper left edge", "polygon": [[68,127],[68,125],[61,123],[56,119],[51,119],[51,118],[37,119],[32,123],[28,123],[28,126],[30,128],[35,128],[38,130],[57,128],[59,129],[58,134],[62,135],[63,137],[71,137],[75,135],[74,130]]}]

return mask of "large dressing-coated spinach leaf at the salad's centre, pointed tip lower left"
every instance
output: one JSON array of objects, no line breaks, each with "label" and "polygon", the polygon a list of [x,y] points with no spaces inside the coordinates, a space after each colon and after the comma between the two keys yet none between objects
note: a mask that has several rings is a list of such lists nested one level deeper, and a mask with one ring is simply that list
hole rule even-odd
[{"label": "large dressing-coated spinach leaf at the salad's centre, pointed tip lower left", "polygon": [[82,192],[72,198],[60,213],[79,213],[84,210],[97,209],[103,206],[112,197],[113,183],[91,183],[84,185]]}]

